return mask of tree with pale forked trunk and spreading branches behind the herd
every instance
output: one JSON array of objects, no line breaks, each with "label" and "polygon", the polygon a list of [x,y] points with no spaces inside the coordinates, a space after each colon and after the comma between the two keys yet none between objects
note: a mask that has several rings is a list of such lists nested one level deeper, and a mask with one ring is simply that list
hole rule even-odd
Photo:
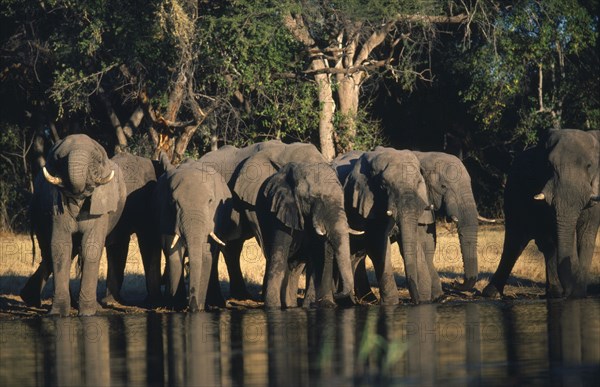
[{"label": "tree with pale forked trunk and spreading branches behind the herd", "polygon": [[[310,57],[305,73],[314,76],[319,90],[320,145],[329,159],[353,148],[363,84],[382,73],[407,87],[429,78],[428,69],[419,70],[419,65],[435,25],[466,20],[465,14],[446,12],[441,3],[379,0],[302,1],[283,17]],[[334,130],[336,106],[339,125]]]}]

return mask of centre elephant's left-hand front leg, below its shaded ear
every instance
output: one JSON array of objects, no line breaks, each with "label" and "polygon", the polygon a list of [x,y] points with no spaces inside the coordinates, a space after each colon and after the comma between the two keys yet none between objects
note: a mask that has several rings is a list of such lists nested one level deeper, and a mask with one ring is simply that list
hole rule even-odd
[{"label": "centre elephant's left-hand front leg, below its shaded ear", "polygon": [[274,230],[272,240],[276,242],[269,244],[267,253],[265,307],[280,308],[282,298],[285,297],[282,285],[287,270],[291,236],[285,231]]}]

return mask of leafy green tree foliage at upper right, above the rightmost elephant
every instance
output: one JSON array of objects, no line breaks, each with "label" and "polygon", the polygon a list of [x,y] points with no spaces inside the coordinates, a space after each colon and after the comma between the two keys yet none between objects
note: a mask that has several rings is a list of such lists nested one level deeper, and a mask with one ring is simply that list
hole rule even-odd
[{"label": "leafy green tree foliage at upper right, above the rightmost elephant", "polygon": [[548,127],[597,127],[600,78],[588,70],[598,66],[597,27],[574,0],[519,1],[500,12],[493,37],[456,65],[472,75],[461,95],[480,129],[529,143]]}]

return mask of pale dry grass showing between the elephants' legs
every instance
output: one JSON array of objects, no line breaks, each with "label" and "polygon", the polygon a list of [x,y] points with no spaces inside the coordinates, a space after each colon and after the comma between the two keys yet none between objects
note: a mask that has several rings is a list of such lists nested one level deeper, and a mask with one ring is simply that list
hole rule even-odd
[{"label": "pale dry grass showing between the elephants' legs", "polygon": [[[476,285],[476,288],[479,290],[483,289],[488,282],[489,276],[496,270],[500,253],[502,252],[503,239],[503,226],[484,226],[480,229],[478,256],[481,275]],[[392,264],[397,273],[398,283],[402,287],[404,282],[404,265],[398,249],[393,247],[392,250]],[[27,278],[34,272],[39,261],[38,248],[35,263],[32,264],[31,242],[28,235],[0,234],[0,294],[18,294]],[[452,225],[441,223],[438,226],[438,248],[434,263],[442,277],[443,284],[450,284],[462,275],[463,266],[458,236],[456,229]],[[249,240],[246,242],[241,258],[241,267],[251,292],[257,294],[260,291],[260,285],[263,280],[265,260],[256,241]],[[369,261],[367,261],[367,268],[369,269],[371,281],[375,283],[375,276]],[[126,279],[123,294],[128,299],[142,299],[145,295],[145,283],[142,261],[135,238],[131,241],[125,270]],[[76,265],[73,265],[71,274],[73,279],[76,277],[75,271]],[[227,295],[229,277],[222,257],[219,260],[219,276],[222,281],[224,293]],[[600,235],[596,240],[596,249],[589,276],[590,283],[596,287],[600,287]],[[103,255],[100,270],[101,290],[104,286],[105,278],[106,259]],[[301,283],[303,282],[301,281]],[[543,294],[544,283],[544,258],[532,242],[515,265],[506,290],[509,293],[517,294]],[[49,289],[51,289],[51,286],[46,287],[46,291],[44,292],[45,297],[50,296]]]}]

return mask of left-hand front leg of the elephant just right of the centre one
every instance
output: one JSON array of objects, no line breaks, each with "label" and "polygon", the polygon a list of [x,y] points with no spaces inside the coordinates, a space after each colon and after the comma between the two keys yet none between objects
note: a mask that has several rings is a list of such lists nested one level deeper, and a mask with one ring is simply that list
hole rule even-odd
[{"label": "left-hand front leg of the elephant just right of the centre one", "polygon": [[368,248],[368,255],[375,267],[381,304],[397,305],[400,299],[392,267],[390,239],[387,234],[384,234],[384,237],[378,243],[374,243]]}]

